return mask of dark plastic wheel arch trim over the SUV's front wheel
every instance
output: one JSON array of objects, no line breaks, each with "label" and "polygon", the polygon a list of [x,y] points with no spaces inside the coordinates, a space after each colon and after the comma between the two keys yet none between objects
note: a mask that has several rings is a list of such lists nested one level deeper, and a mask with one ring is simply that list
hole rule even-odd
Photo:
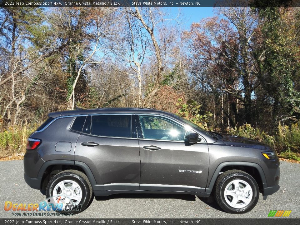
[{"label": "dark plastic wheel arch trim over the SUV's front wheel", "polygon": [[[243,169],[244,168],[244,169]],[[246,168],[246,169],[245,169]],[[260,186],[260,189],[267,187],[267,181],[265,174],[257,163],[250,163],[250,162],[224,162],[217,166],[215,172],[212,175],[212,178],[210,182],[208,183],[208,186],[206,188],[206,193],[212,193],[212,189],[214,188],[214,185],[216,183],[217,177],[220,173],[225,172],[230,169],[240,169],[245,171],[246,173],[249,173],[250,168],[253,168],[258,172],[257,175],[253,176],[253,178],[257,181],[258,186]],[[255,174],[255,173],[254,173]],[[252,175],[250,173],[250,175]]]}]

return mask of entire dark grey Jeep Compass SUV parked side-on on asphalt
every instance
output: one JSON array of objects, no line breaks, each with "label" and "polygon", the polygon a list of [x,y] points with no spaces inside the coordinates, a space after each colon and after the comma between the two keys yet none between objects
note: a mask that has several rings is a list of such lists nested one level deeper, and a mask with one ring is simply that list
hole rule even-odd
[{"label": "entire dark grey Jeep Compass SUV parked side-on on asphalt", "polygon": [[48,116],[28,138],[25,181],[81,210],[93,194],[213,193],[224,211],[243,213],[260,192],[265,198],[279,189],[272,148],[205,131],[172,113],[99,108]]}]

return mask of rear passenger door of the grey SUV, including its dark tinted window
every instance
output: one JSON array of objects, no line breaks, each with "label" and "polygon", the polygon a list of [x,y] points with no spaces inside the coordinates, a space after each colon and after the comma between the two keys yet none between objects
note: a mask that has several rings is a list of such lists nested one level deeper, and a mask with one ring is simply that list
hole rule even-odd
[{"label": "rear passenger door of the grey SUV, including its dark tinted window", "polygon": [[87,116],[74,159],[91,169],[97,190],[138,190],[140,157],[134,116]]}]

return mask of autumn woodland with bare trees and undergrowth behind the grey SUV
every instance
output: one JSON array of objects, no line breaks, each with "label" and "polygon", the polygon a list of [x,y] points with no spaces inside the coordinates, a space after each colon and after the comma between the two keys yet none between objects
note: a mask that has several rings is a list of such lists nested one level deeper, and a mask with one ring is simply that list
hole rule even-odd
[{"label": "autumn woodland with bare trees and undergrowth behind the grey SUV", "polygon": [[[300,10],[0,8],[0,158],[47,114],[156,108],[300,161]],[[194,18],[194,17],[193,17]]]}]

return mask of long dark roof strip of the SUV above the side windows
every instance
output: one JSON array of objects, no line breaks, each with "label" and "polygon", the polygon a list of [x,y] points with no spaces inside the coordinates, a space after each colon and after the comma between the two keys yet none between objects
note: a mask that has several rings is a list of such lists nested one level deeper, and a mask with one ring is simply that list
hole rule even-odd
[{"label": "long dark roof strip of the SUV above the side windows", "polygon": [[49,113],[48,117],[56,118],[60,116],[72,116],[72,115],[86,115],[86,114],[98,114],[98,113],[155,113],[163,115],[171,115],[163,110],[157,110],[154,108],[95,108],[95,109],[77,109],[67,110]]}]

